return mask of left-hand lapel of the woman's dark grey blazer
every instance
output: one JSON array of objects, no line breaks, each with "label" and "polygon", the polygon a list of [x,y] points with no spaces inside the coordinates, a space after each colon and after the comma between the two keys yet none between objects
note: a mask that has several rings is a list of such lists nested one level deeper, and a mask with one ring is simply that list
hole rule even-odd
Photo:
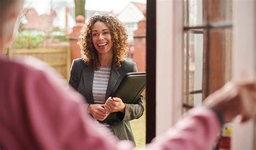
[{"label": "left-hand lapel of the woman's dark grey blazer", "polygon": [[92,96],[93,75],[94,70],[92,66],[87,66],[83,69],[85,95],[88,103],[94,103]]}]

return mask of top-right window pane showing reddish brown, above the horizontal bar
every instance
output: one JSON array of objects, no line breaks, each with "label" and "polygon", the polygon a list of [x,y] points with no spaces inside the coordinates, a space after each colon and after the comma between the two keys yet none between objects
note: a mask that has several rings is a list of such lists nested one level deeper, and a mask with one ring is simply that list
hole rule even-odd
[{"label": "top-right window pane showing reddish brown, above the horizontal bar", "polygon": [[232,22],[232,0],[208,1],[210,22]]}]

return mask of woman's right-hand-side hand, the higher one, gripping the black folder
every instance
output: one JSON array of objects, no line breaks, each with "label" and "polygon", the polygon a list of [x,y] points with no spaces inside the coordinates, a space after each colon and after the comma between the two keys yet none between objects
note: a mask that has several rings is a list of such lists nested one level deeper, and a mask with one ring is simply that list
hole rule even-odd
[{"label": "woman's right-hand-side hand, the higher one, gripping the black folder", "polygon": [[108,112],[122,112],[125,113],[125,104],[122,99],[109,97],[105,103],[105,110]]}]

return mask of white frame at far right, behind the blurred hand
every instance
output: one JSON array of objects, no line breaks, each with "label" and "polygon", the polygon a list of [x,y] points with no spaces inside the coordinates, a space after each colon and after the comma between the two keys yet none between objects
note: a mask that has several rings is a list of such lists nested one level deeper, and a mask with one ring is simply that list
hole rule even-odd
[{"label": "white frame at far right, behind the blurred hand", "polygon": [[[233,1],[233,79],[255,78],[256,75],[256,2]],[[254,122],[234,123],[232,149],[255,149]]]}]

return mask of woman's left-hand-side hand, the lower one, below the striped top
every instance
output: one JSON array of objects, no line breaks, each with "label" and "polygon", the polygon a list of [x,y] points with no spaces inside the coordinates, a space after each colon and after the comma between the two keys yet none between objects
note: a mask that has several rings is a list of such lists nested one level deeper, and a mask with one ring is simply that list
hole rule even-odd
[{"label": "woman's left-hand-side hand, the lower one, below the striped top", "polygon": [[104,104],[91,104],[89,105],[87,111],[92,115],[93,118],[99,121],[105,120],[109,115],[109,112],[104,109]]}]

